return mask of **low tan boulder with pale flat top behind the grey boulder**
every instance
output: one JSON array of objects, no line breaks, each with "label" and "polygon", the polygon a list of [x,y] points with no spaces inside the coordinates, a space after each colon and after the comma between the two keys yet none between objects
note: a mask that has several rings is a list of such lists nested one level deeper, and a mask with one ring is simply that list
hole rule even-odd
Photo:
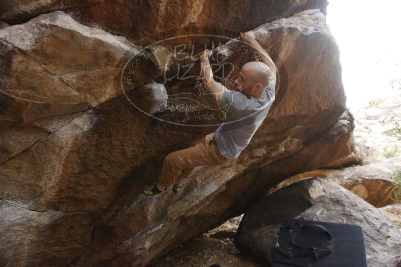
[{"label": "low tan boulder with pale flat top behind the grey boulder", "polygon": [[299,173],[280,182],[269,192],[272,193],[300,179],[319,176],[335,181],[375,207],[384,207],[396,203],[390,198],[396,189],[390,180],[390,175],[396,169],[401,169],[400,159],[393,157],[366,165],[348,166],[342,169],[315,169]]}]

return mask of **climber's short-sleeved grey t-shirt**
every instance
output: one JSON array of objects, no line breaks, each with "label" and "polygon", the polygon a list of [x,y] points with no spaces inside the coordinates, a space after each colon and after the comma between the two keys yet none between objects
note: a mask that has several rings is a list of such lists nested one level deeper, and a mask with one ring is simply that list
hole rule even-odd
[{"label": "climber's short-sleeved grey t-shirt", "polygon": [[266,86],[262,99],[236,90],[225,90],[222,105],[229,104],[223,123],[216,130],[220,153],[234,159],[249,144],[275,99],[275,83]]}]

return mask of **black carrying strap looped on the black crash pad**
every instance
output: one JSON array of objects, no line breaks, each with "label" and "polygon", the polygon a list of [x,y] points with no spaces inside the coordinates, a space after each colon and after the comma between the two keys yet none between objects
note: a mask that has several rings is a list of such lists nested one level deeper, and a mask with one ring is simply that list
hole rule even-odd
[{"label": "black carrying strap looped on the black crash pad", "polygon": [[[294,230],[295,224],[298,223],[299,226],[302,228],[311,228],[311,227],[317,227],[325,231],[327,238],[326,238],[326,243],[325,243],[325,248],[319,248],[319,247],[312,247],[312,246],[301,246],[299,244],[295,243],[295,235],[297,233],[296,230]],[[294,254],[295,256],[303,256],[303,255],[313,255],[315,258],[321,258],[326,256],[328,253],[333,251],[333,237],[331,233],[324,228],[322,225],[319,224],[307,224],[307,225],[302,225],[299,221],[295,221],[292,225],[284,228],[289,228],[288,230],[288,235],[289,235],[289,240],[291,243],[300,249],[297,250],[297,252]]]}]

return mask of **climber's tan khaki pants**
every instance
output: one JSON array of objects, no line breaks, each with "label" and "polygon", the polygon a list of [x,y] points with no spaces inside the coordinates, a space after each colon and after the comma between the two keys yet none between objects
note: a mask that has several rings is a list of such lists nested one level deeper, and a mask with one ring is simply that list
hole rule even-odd
[{"label": "climber's tan khaki pants", "polygon": [[164,186],[172,186],[181,172],[191,176],[194,168],[203,165],[220,165],[230,159],[220,154],[215,139],[215,131],[196,141],[194,146],[171,152],[163,162],[159,182]]}]

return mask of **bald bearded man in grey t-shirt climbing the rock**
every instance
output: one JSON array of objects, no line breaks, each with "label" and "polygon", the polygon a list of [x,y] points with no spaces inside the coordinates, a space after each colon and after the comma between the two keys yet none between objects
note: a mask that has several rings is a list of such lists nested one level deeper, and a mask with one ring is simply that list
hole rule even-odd
[{"label": "bald bearded man in grey t-shirt climbing the rock", "polygon": [[242,40],[261,56],[261,62],[244,64],[229,90],[213,78],[209,63],[211,51],[199,53],[202,76],[209,94],[219,106],[230,104],[224,122],[216,131],[197,141],[194,146],[171,152],[163,162],[157,184],[145,186],[143,194],[157,195],[173,186],[178,193],[185,178],[202,165],[220,165],[238,157],[266,117],[275,99],[276,66],[255,39],[252,30],[240,33]]}]

